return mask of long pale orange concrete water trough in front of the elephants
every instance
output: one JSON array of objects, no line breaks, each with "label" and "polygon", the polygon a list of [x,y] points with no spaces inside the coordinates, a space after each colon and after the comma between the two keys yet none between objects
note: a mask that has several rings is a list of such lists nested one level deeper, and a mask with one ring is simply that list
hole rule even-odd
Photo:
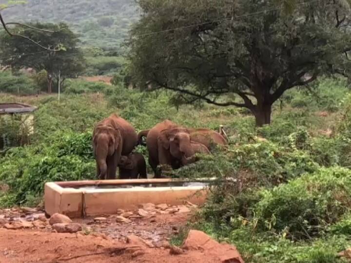
[{"label": "long pale orange concrete water trough in front of the elephants", "polygon": [[103,180],[51,182],[45,184],[47,214],[62,213],[71,218],[116,214],[117,209],[135,209],[140,204],[195,205],[205,202],[215,178]]}]

